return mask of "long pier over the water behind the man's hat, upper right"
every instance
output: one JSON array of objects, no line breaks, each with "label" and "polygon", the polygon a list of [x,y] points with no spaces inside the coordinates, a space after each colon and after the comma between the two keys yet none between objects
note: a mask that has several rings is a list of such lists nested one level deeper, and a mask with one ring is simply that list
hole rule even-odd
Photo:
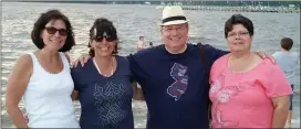
[{"label": "long pier over the water behind the man's hat, upper right", "polygon": [[201,11],[232,11],[232,12],[274,12],[274,13],[300,13],[301,2],[284,4],[277,1],[200,1],[199,4],[189,2],[162,2],[157,9],[166,6],[180,6],[184,10]]}]

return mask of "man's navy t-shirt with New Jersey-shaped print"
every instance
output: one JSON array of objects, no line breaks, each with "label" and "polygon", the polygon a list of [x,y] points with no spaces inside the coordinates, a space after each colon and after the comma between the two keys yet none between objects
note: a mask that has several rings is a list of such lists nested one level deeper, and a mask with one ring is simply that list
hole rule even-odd
[{"label": "man's navy t-shirt with New Jersey-shaped print", "polygon": [[[204,45],[209,68],[228,52]],[[148,108],[148,128],[208,128],[209,76],[197,45],[170,54],[164,45],[128,56]],[[208,69],[208,68],[207,68]]]}]

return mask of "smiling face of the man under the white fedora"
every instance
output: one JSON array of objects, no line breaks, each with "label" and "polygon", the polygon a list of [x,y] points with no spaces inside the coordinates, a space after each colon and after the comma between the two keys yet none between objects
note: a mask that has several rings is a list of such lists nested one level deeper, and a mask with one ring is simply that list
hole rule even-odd
[{"label": "smiling face of the man under the white fedora", "polygon": [[186,23],[162,26],[162,40],[167,49],[180,50],[188,40]]}]

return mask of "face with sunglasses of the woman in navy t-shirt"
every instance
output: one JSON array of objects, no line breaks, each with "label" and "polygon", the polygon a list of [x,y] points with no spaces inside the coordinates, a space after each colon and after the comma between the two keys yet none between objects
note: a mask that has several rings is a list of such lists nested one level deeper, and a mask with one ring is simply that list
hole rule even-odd
[{"label": "face with sunglasses of the woman in navy t-shirt", "polygon": [[92,39],[91,46],[95,51],[95,55],[98,56],[112,56],[112,53],[115,51],[116,39],[112,39],[110,35],[104,33],[101,36]]}]

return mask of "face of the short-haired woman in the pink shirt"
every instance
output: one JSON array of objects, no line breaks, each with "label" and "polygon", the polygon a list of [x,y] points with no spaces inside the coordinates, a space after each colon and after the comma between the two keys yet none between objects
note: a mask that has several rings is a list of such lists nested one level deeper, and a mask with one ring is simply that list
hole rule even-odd
[{"label": "face of the short-haired woman in the pink shirt", "polygon": [[250,51],[252,36],[242,24],[235,24],[228,33],[227,43],[231,52]]}]

